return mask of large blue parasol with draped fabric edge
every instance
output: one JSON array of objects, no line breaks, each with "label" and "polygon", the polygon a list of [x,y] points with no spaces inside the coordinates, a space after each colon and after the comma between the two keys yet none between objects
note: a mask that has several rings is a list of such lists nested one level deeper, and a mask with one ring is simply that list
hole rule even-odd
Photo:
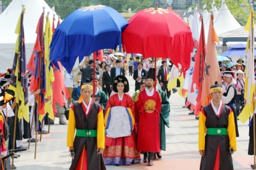
[{"label": "large blue parasol with draped fabric edge", "polygon": [[60,61],[70,72],[77,57],[81,62],[83,57],[100,49],[121,47],[122,31],[127,25],[125,18],[111,7],[81,7],[56,28],[50,60],[55,65]]}]

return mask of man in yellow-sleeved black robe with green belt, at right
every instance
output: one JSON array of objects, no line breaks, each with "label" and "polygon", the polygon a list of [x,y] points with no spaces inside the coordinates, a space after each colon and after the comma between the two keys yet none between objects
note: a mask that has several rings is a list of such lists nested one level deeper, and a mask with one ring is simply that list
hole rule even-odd
[{"label": "man in yellow-sleeved black robe with green belt, at right", "polygon": [[[222,86],[211,86],[212,101],[199,113],[200,170],[231,170],[236,151],[236,127],[230,107],[221,102]],[[205,135],[206,134],[206,135]]]}]

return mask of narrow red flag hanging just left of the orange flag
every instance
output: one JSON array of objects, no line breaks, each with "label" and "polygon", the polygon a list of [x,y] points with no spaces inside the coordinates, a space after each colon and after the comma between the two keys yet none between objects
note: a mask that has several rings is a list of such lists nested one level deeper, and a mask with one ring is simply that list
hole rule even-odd
[{"label": "narrow red flag hanging just left of the orange flag", "polygon": [[194,66],[194,73],[192,78],[192,86],[191,92],[194,92],[193,84],[196,84],[196,89],[198,90],[198,95],[196,98],[197,104],[195,108],[195,115],[199,115],[199,111],[201,108],[201,95],[202,95],[202,83],[204,80],[204,62],[205,62],[205,35],[204,35],[204,22],[202,18],[200,18],[202,23],[201,26],[201,33],[199,39],[199,45],[197,48],[197,53],[195,55],[195,66]]}]

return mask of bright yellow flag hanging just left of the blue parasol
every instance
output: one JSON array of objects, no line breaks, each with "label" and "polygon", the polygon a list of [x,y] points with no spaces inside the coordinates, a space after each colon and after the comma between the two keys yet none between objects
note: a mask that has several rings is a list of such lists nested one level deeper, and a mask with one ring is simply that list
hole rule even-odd
[{"label": "bright yellow flag hanging just left of the blue parasol", "polygon": [[[52,82],[54,81],[54,73],[52,67],[50,67],[50,49],[49,46],[52,41],[52,28],[51,23],[49,21],[49,17],[46,17],[46,25],[44,28],[44,54],[46,60],[46,95],[45,103],[44,103],[44,110],[45,113],[49,114],[50,119],[54,119],[54,113],[52,110]],[[44,115],[39,116],[39,120],[43,119]]]}]

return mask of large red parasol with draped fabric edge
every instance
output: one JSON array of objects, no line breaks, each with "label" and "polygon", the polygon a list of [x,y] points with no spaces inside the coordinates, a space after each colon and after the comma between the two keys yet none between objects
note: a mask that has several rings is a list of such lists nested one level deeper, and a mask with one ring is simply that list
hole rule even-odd
[{"label": "large red parasol with draped fabric edge", "polygon": [[175,12],[156,7],[140,10],[128,21],[122,33],[123,51],[144,58],[168,57],[176,66],[190,67],[193,47],[187,23]]}]

